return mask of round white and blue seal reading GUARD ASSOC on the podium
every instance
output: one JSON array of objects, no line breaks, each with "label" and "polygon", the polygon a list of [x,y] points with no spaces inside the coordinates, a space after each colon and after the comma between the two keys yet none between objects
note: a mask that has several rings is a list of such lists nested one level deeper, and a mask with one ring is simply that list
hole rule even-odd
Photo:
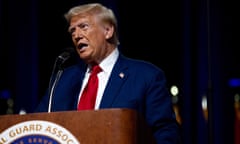
[{"label": "round white and blue seal reading GUARD ASSOC on the podium", "polygon": [[64,127],[32,120],[13,125],[0,134],[0,144],[80,144]]}]

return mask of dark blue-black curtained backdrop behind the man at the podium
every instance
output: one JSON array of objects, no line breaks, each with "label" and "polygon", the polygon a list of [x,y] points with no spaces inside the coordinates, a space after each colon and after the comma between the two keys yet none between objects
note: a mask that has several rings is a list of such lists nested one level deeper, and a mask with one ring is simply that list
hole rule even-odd
[{"label": "dark blue-black curtained backdrop behind the man at the podium", "polygon": [[[234,143],[239,8],[234,0],[0,0],[0,112],[33,112],[55,58],[72,46],[64,13],[100,2],[119,22],[122,52],[165,71],[179,88],[184,144]],[[202,99],[208,100],[208,120]]]}]

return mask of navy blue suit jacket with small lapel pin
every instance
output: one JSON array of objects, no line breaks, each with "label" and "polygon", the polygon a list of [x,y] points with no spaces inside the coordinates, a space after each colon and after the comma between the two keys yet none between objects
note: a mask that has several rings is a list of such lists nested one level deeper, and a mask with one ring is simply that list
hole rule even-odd
[{"label": "navy blue suit jacket with small lapel pin", "polygon": [[[52,99],[51,111],[76,110],[87,65],[80,62],[64,69]],[[130,108],[144,116],[157,143],[175,144],[178,125],[166,89],[164,73],[158,67],[119,55],[104,91],[100,109]],[[48,111],[46,95],[36,112]]]}]

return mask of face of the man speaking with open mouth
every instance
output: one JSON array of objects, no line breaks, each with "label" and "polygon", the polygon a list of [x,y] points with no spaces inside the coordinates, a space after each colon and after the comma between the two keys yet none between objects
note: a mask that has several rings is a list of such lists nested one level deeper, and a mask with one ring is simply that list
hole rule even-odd
[{"label": "face of the man speaking with open mouth", "polygon": [[69,32],[81,59],[87,63],[99,63],[106,57],[107,30],[97,17],[84,14],[72,17]]}]

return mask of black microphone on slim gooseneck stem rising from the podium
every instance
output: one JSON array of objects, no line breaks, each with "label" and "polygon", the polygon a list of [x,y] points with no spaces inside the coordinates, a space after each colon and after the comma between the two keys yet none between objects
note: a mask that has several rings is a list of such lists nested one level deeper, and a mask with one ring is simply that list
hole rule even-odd
[{"label": "black microphone on slim gooseneck stem rising from the podium", "polygon": [[[55,87],[56,87],[62,73],[63,73],[64,64],[72,56],[73,52],[74,52],[73,48],[67,48],[55,60],[53,71],[52,71],[51,78],[49,81],[49,88],[48,88],[48,91],[49,91],[49,93],[48,93],[48,95],[49,95],[48,112],[51,112],[52,98],[54,95],[54,90],[55,90]],[[56,76],[54,75],[55,71],[57,71]],[[55,79],[53,79],[54,76],[55,76]]]}]

